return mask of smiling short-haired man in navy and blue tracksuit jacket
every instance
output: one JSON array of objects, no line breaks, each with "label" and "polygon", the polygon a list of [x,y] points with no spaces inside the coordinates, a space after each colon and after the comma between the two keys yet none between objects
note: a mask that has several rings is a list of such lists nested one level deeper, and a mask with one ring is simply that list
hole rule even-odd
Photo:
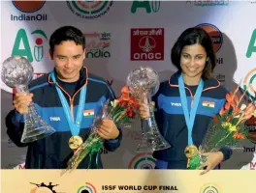
[{"label": "smiling short-haired man in navy and blue tracksuit jacket", "polygon": [[[52,73],[56,83],[53,82],[52,73],[31,81],[29,84],[30,94],[16,94],[14,99],[16,109],[11,111],[6,118],[7,133],[11,140],[18,147],[28,146],[25,161],[26,169],[64,169],[74,154],[74,150],[69,147],[69,139],[72,137],[71,129],[56,87],[60,88],[70,105],[74,120],[77,117],[80,103],[80,91],[86,87],[79,134],[83,141],[88,137],[94,117],[88,116],[84,112],[97,115],[97,112],[108,99],[114,99],[112,89],[107,82],[82,67],[82,61],[85,58],[85,39],[80,30],[72,26],[59,28],[51,35],[49,44],[49,54],[55,62]],[[27,112],[27,105],[32,98],[31,94],[41,118],[56,131],[43,139],[24,144],[20,142],[24,128],[23,115]],[[99,126],[98,133],[105,139],[105,149],[113,152],[120,146],[122,133],[112,121],[107,121]],[[96,156],[99,156],[99,163],[97,164]],[[86,156],[78,168],[103,168],[100,154],[94,153],[91,160],[93,161],[90,163],[90,157]]]}]

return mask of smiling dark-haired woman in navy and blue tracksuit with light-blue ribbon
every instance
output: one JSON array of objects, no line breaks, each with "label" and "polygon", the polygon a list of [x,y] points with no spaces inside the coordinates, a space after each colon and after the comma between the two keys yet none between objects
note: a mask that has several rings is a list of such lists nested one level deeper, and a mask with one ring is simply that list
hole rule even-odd
[{"label": "smiling dark-haired woman in navy and blue tracksuit with light-blue ribbon", "polygon": [[[156,169],[186,169],[185,148],[191,144],[199,148],[210,120],[224,105],[227,90],[212,78],[215,61],[212,41],[203,29],[189,28],[177,39],[172,49],[172,62],[178,70],[160,84],[158,93],[153,96],[159,130],[172,146],[153,152]],[[183,109],[185,106],[187,110]],[[192,111],[195,118],[191,122]],[[148,116],[146,104],[141,105],[140,115]],[[208,161],[199,169],[205,169],[202,174],[207,173],[231,154],[228,148],[208,152]]]}]

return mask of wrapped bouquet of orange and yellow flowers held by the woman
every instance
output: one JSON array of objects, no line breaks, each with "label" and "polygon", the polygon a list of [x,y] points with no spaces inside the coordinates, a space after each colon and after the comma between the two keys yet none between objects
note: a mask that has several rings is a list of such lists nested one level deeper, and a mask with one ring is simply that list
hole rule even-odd
[{"label": "wrapped bouquet of orange and yellow flowers held by the woman", "polygon": [[239,97],[239,88],[226,95],[226,103],[219,114],[215,115],[209,123],[208,130],[199,149],[193,145],[186,148],[185,154],[188,158],[188,169],[196,169],[207,160],[207,157],[203,156],[202,153],[217,152],[223,147],[238,149],[241,146],[241,142],[246,140],[245,136],[248,130],[244,122],[252,116],[256,117],[256,108],[252,102],[248,105],[241,104],[246,91]]}]

